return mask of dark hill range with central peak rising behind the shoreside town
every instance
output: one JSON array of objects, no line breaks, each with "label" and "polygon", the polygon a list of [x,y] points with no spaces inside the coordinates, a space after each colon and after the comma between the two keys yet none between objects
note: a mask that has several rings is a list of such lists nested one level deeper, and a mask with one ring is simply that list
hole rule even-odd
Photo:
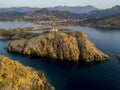
[{"label": "dark hill range with central peak rising behind the shoreside town", "polygon": [[[16,12],[6,11],[0,12],[0,20],[16,19],[22,21],[40,21],[40,20],[62,20],[62,19],[79,19],[79,14],[70,13],[68,11],[56,11],[43,8],[35,12]],[[5,18],[5,19],[3,19]]]}]

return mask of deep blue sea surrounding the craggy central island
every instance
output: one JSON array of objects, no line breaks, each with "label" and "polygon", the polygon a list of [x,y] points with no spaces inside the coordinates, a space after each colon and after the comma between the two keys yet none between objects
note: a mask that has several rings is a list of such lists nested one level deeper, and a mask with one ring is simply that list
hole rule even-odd
[{"label": "deep blue sea surrounding the craggy central island", "polygon": [[111,60],[101,63],[77,64],[53,61],[50,58],[14,55],[4,49],[10,40],[0,41],[0,54],[44,71],[56,90],[120,90],[120,62],[114,56],[120,54],[120,30],[69,28],[85,32],[99,49],[111,56]]}]

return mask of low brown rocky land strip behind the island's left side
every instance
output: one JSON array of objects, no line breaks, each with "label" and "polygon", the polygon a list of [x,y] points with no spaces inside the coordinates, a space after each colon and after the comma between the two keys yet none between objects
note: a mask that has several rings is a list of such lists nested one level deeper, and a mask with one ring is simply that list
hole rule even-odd
[{"label": "low brown rocky land strip behind the island's left side", "polygon": [[[58,31],[69,30],[67,28],[62,28],[62,27],[55,27],[55,28]],[[38,33],[32,33],[31,31],[49,31],[50,29],[51,29],[50,26],[0,29],[0,40],[3,40],[3,39],[30,39],[30,38],[38,35]]]}]

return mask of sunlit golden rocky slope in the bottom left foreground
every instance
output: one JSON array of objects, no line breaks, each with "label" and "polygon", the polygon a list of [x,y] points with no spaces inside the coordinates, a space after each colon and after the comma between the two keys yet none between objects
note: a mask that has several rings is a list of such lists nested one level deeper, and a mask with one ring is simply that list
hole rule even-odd
[{"label": "sunlit golden rocky slope in the bottom left foreground", "polygon": [[0,90],[54,90],[41,71],[0,55]]}]

